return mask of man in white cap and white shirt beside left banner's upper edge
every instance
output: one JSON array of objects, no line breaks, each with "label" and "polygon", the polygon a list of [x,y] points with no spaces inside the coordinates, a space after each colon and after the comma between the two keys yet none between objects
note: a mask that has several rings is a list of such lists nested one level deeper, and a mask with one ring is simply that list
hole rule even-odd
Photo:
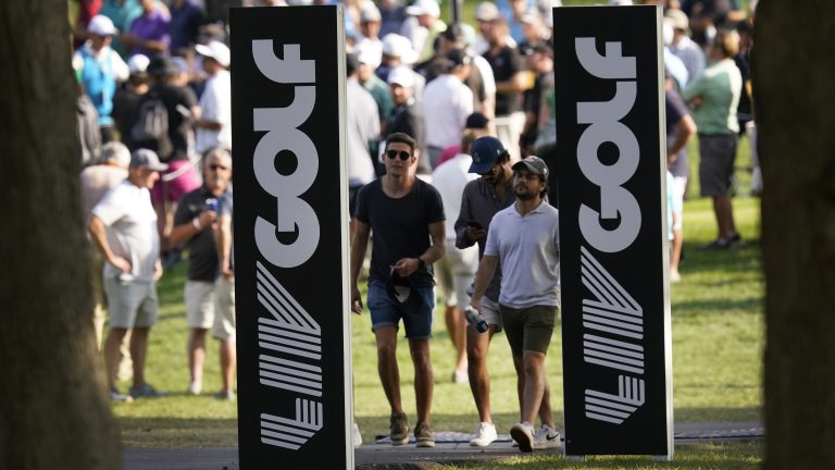
[{"label": "man in white cap and white shirt beside left banner's upper edge", "polygon": [[232,148],[232,81],[229,72],[229,48],[213,40],[197,45],[195,50],[203,60],[203,70],[209,74],[205,89],[200,97],[200,118],[195,120],[195,149],[205,153],[215,147]]}]

